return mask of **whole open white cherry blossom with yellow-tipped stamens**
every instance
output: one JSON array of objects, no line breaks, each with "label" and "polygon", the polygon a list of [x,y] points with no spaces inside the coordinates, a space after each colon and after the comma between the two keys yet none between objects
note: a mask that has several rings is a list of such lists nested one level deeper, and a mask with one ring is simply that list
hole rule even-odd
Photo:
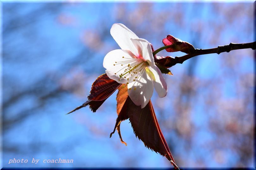
[{"label": "whole open white cherry blossom with yellow-tipped stamens", "polygon": [[129,97],[141,108],[151,99],[153,88],[159,97],[165,97],[167,84],[154,63],[151,44],[123,24],[112,25],[110,34],[121,49],[110,51],[104,58],[109,78],[125,84]]}]

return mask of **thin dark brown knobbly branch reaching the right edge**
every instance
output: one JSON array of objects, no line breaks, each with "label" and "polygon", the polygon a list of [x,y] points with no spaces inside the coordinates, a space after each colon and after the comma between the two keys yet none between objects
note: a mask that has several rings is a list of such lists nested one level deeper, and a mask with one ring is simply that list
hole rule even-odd
[{"label": "thin dark brown knobbly branch reaching the right edge", "polygon": [[175,58],[172,58],[170,63],[168,64],[168,66],[172,67],[173,65],[176,65],[177,63],[182,64],[187,59],[190,59],[190,58],[198,56],[198,55],[213,54],[213,53],[220,54],[223,52],[228,53],[229,51],[232,51],[232,50],[246,49],[246,48],[252,48],[253,50],[255,50],[256,41],[252,42],[252,43],[241,43],[241,44],[230,43],[229,45],[218,46],[217,48],[195,49],[190,54],[187,54],[187,55],[184,55],[181,57],[176,56]]}]

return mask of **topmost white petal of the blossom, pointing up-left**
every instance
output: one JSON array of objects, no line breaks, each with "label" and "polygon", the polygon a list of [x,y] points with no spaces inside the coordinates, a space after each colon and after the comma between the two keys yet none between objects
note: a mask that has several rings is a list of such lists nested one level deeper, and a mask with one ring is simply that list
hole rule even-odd
[{"label": "topmost white petal of the blossom, pointing up-left", "polygon": [[137,55],[138,50],[133,45],[131,38],[139,38],[133,31],[127,28],[123,24],[113,24],[110,29],[110,34],[116,41],[116,43],[120,46],[123,50],[129,50],[134,55]]}]

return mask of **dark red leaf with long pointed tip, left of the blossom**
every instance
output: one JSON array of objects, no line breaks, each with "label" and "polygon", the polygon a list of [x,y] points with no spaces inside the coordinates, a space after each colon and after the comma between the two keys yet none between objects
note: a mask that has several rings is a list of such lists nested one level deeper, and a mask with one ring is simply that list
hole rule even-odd
[{"label": "dark red leaf with long pointed tip, left of the blossom", "polygon": [[[116,89],[120,86],[118,82],[115,80],[110,79],[107,74],[103,74],[99,76],[95,82],[93,82],[91,86],[91,92],[88,96],[88,101],[85,102],[83,105],[77,107],[76,109],[72,110],[69,113],[72,113],[82,107],[87,105],[90,106],[91,110],[95,112],[103,102],[108,99],[108,97],[116,91]],[[69,114],[67,113],[67,114]]]}]

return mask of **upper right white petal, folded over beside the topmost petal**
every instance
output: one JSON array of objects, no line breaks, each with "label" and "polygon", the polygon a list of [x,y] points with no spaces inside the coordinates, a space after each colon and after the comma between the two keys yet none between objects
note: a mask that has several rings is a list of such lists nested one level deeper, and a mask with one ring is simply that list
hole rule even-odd
[{"label": "upper right white petal, folded over beside the topmost petal", "polygon": [[137,42],[136,44],[140,43],[141,47],[142,47],[141,55],[142,55],[143,59],[146,60],[150,65],[152,63],[154,63],[154,56],[153,56],[152,48],[151,48],[150,43],[147,40],[145,40],[143,38],[136,38],[136,39],[133,38],[132,42],[133,43]]}]

